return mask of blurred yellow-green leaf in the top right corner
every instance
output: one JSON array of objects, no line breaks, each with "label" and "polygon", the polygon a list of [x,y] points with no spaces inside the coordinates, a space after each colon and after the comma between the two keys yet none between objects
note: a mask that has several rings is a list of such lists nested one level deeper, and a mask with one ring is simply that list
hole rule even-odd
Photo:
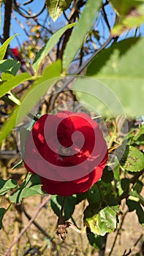
[{"label": "blurred yellow-green leaf in the top right corner", "polygon": [[113,9],[120,16],[120,20],[113,27],[111,34],[121,35],[122,32],[137,28],[144,23],[144,4],[142,0],[132,0],[132,1],[115,1],[110,0]]}]

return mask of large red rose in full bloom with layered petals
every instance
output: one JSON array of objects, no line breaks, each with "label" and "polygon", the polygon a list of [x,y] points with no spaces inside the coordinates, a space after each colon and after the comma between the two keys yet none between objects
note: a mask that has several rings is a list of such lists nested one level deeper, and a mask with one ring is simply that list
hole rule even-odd
[{"label": "large red rose in full bloom with layered petals", "polygon": [[98,124],[85,113],[44,115],[26,139],[24,165],[51,195],[86,192],[107,162],[107,145]]}]

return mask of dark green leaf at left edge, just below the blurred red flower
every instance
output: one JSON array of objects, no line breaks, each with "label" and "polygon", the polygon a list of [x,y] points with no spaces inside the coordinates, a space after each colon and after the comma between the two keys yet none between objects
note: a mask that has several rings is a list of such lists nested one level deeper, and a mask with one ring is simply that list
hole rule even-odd
[{"label": "dark green leaf at left edge, just below the blurred red flower", "polygon": [[16,75],[18,69],[20,69],[19,61],[15,61],[14,59],[4,59],[3,61],[0,61],[0,70],[2,72],[7,72],[12,75]]}]

